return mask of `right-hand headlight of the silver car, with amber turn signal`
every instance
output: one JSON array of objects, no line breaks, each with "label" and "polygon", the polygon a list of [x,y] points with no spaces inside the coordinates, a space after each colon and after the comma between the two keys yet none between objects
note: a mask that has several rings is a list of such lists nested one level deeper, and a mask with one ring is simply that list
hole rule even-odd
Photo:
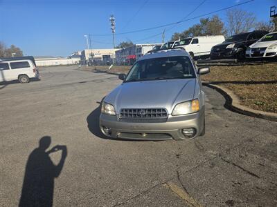
[{"label": "right-hand headlight of the silver car, with amber turn signal", "polygon": [[194,99],[192,101],[178,103],[172,111],[172,116],[188,115],[197,111],[199,111],[199,100]]}]

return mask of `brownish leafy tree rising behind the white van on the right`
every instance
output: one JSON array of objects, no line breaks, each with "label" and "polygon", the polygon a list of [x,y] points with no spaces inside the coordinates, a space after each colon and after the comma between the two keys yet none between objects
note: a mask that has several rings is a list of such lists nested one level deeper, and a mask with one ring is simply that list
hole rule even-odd
[{"label": "brownish leafy tree rising behind the white van on the right", "polygon": [[184,30],[184,32],[175,32],[172,35],[172,40],[182,39],[186,37],[200,36],[200,35],[220,35],[226,34],[224,29],[224,23],[221,21],[220,17],[214,15],[210,18],[200,19],[200,23]]}]

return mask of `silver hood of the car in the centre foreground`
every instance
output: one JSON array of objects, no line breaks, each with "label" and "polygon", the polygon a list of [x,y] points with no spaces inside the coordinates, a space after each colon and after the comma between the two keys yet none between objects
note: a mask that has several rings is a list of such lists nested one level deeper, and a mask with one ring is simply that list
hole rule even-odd
[{"label": "silver hood of the car in the centre foreground", "polygon": [[166,108],[171,114],[176,103],[193,99],[196,79],[172,79],[122,83],[104,101],[116,113],[121,108]]}]

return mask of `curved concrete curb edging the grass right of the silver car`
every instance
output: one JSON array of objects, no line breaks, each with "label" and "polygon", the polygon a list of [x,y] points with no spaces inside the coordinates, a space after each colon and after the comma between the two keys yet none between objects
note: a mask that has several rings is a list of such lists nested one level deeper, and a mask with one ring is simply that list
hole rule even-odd
[{"label": "curved concrete curb edging the grass right of the silver car", "polygon": [[276,121],[277,122],[277,114],[273,112],[264,112],[261,110],[255,110],[249,108],[247,106],[242,106],[240,104],[240,100],[237,95],[235,95],[231,90],[225,88],[223,86],[217,86],[214,84],[210,84],[208,82],[202,82],[204,86],[209,88],[213,88],[220,92],[224,98],[226,99],[226,107],[230,108],[231,110],[238,112],[242,115],[247,115],[251,117],[258,117],[260,119],[267,119],[269,121]]}]

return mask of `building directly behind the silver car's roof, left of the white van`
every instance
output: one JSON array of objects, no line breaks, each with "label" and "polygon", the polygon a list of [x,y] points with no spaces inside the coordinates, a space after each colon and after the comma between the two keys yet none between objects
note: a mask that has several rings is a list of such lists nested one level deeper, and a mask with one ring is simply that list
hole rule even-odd
[{"label": "building directly behind the silver car's roof, left of the white van", "polygon": [[116,63],[119,65],[131,65],[139,57],[142,57],[148,51],[152,50],[154,46],[161,46],[161,43],[135,44],[134,46],[117,50]]}]

